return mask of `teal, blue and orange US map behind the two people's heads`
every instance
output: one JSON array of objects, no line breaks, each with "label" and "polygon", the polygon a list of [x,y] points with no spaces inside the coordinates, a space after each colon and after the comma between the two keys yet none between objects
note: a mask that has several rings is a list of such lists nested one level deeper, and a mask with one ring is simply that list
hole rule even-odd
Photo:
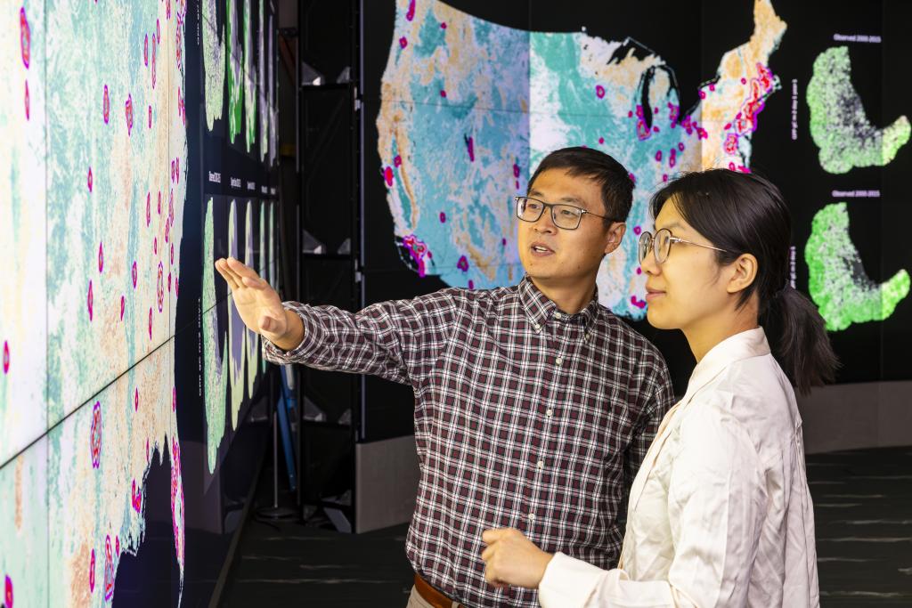
[{"label": "teal, blue and orange US map behind the two people's heads", "polygon": [[651,227],[648,196],[681,171],[750,170],[759,115],[779,88],[768,66],[785,27],[757,0],[753,35],[722,57],[686,110],[666,61],[631,38],[530,32],[399,0],[377,127],[378,179],[403,262],[454,286],[516,283],[513,196],[549,151],[585,145],[614,156],[637,184],[628,236],[606,257],[598,293],[617,314],[641,318],[636,242]]}]

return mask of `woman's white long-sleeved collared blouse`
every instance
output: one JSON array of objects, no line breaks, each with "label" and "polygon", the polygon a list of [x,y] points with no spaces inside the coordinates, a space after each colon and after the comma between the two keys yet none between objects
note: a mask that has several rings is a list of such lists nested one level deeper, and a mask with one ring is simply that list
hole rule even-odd
[{"label": "woman's white long-sleeved collared blouse", "polygon": [[820,605],[801,417],[761,327],[694,369],[627,513],[617,569],[557,553],[544,608]]}]

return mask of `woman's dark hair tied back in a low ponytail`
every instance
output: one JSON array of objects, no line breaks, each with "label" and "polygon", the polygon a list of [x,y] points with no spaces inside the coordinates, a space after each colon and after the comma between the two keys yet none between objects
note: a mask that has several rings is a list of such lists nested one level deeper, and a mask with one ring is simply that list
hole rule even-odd
[{"label": "woman's dark hair tied back in a low ponytail", "polygon": [[720,264],[742,253],[757,258],[757,276],[739,306],[757,294],[760,323],[773,353],[799,392],[832,382],[838,360],[814,304],[789,284],[792,215],[782,193],[755,173],[712,169],[687,173],[652,197],[652,214],[672,201],[681,217],[713,245]]}]

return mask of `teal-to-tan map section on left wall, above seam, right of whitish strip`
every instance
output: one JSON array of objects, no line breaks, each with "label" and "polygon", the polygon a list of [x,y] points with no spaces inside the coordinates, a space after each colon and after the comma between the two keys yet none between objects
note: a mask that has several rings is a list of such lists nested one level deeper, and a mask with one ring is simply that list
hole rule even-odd
[{"label": "teal-to-tan map section on left wall, above seam, right of whitish strip", "polygon": [[178,15],[47,3],[49,425],[173,334],[187,181]]}]

